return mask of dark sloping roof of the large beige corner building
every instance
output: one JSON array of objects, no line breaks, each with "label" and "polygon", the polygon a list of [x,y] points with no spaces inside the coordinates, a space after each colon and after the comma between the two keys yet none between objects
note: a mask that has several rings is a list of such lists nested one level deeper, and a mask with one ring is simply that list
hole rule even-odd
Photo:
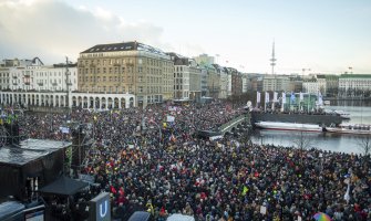
[{"label": "dark sloping roof of the large beige corner building", "polygon": [[100,53],[100,52],[121,52],[121,51],[144,51],[161,55],[166,55],[162,50],[143,44],[136,41],[121,42],[112,44],[96,44],[81,53]]}]

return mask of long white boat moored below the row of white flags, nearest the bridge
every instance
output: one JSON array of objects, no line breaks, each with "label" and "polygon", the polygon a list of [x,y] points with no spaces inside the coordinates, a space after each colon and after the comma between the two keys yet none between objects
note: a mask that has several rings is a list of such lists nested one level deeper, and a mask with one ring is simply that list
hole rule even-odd
[{"label": "long white boat moored below the row of white flags, nearest the bridge", "polygon": [[282,122],[258,122],[255,123],[256,127],[261,129],[276,129],[276,130],[298,130],[298,131],[322,131],[323,128],[316,124],[297,124],[297,123],[282,123]]}]

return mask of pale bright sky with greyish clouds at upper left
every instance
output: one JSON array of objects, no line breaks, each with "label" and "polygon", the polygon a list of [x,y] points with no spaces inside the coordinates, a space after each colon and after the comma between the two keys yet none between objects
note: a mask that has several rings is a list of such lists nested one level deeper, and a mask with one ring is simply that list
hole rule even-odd
[{"label": "pale bright sky with greyish clouds at upper left", "polygon": [[247,73],[271,73],[275,41],[277,74],[371,74],[371,1],[0,0],[0,60],[76,62],[123,41]]}]

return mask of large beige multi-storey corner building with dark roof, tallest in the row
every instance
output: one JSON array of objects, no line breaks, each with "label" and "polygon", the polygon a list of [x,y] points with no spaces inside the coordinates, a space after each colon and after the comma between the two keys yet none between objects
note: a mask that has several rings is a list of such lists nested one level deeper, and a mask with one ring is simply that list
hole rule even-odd
[{"label": "large beige multi-storey corner building with dark roof, tallest in the row", "polygon": [[134,94],[144,107],[174,95],[174,64],[163,51],[138,42],[99,44],[80,53],[79,92]]}]

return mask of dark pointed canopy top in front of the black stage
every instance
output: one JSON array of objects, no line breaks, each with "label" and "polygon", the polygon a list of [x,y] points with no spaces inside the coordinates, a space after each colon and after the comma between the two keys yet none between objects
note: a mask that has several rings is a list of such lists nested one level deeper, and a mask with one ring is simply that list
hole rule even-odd
[{"label": "dark pointed canopy top in front of the black stage", "polygon": [[54,182],[39,189],[39,192],[72,196],[87,186],[87,182],[74,180],[68,177],[61,177]]}]

